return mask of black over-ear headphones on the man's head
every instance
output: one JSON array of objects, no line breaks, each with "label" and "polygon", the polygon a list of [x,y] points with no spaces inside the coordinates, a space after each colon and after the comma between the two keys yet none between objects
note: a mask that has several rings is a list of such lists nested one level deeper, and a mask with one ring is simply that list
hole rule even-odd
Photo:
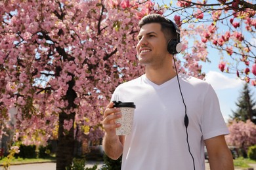
[{"label": "black over-ear headphones on the man's head", "polygon": [[175,32],[177,33],[177,39],[171,39],[168,42],[167,50],[168,50],[169,54],[178,54],[182,50],[182,44],[180,42],[181,31],[177,24],[175,24],[174,22],[172,22],[171,20],[169,20],[167,18],[166,18],[166,20],[168,21],[168,24],[172,25],[172,27],[175,28]]}]

